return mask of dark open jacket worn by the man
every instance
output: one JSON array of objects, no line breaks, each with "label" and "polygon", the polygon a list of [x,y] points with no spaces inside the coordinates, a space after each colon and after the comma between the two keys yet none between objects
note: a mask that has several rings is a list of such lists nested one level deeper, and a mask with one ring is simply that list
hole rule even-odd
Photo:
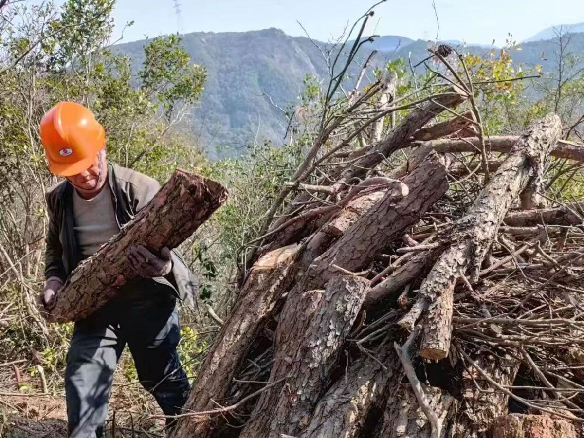
[{"label": "dark open jacket worn by the man", "polygon": [[[117,223],[121,228],[150,202],[160,185],[150,176],[117,165],[108,164],[107,173]],[[74,187],[65,179],[45,195],[49,218],[44,269],[47,279],[57,276],[65,280],[81,262],[74,231],[73,190]],[[172,288],[171,292],[181,300],[191,302],[196,296],[197,283],[176,250],[172,251],[172,272],[154,280]]]}]

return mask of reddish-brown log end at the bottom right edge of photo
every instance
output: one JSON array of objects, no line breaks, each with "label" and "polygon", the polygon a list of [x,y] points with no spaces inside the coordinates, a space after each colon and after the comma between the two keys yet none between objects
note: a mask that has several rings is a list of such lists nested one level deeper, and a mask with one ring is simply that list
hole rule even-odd
[{"label": "reddish-brown log end at the bottom right edge of photo", "polygon": [[512,413],[496,419],[492,438],[580,438],[576,426],[551,415]]}]

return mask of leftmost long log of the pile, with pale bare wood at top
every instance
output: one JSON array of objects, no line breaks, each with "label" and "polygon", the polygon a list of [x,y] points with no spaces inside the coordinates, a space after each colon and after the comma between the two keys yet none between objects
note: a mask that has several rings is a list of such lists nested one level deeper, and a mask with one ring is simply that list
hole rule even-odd
[{"label": "leftmost long log of the pile, with pale bare wood at top", "polygon": [[[237,364],[241,363],[258,335],[262,322],[272,315],[273,307],[293,281],[299,245],[276,249],[253,265],[248,280],[239,293],[230,317],[221,327],[213,349],[201,366],[190,390],[186,407],[193,411],[217,408],[214,401],[227,397]],[[209,436],[214,418],[185,417],[173,431],[173,437]]]}]

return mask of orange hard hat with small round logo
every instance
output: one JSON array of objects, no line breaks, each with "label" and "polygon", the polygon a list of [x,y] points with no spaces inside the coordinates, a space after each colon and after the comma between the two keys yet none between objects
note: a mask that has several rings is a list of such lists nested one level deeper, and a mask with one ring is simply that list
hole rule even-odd
[{"label": "orange hard hat with small round logo", "polygon": [[40,121],[40,139],[50,171],[71,176],[91,167],[105,146],[106,133],[85,106],[59,102]]}]

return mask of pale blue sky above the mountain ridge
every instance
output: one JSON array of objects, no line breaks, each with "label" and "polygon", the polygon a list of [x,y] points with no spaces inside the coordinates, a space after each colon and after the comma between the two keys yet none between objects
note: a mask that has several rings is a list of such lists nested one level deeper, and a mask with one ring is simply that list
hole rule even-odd
[{"label": "pale blue sky above the mountain ridge", "polygon": [[[58,0],[57,3],[62,2]],[[504,44],[511,32],[517,41],[545,27],[584,22],[584,0],[435,0],[439,38],[468,43]],[[297,20],[318,40],[339,36],[373,0],[178,0],[183,32],[242,32],[277,27],[303,35]],[[114,16],[124,41],[173,33],[178,23],[174,0],[117,0]],[[388,0],[376,9],[369,33],[412,39],[434,39],[436,18],[432,0]]]}]

